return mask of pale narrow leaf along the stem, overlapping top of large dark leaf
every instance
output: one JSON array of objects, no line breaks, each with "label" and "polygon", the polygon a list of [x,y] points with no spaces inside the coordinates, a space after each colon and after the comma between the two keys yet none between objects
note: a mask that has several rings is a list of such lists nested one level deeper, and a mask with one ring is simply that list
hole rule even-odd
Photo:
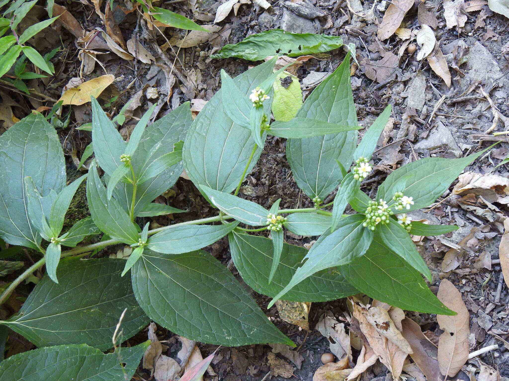
[{"label": "pale narrow leaf along the stem, overlapping top of large dark leaf", "polygon": [[166,254],[180,254],[208,246],[239,225],[238,221],[224,225],[181,225],[154,234],[147,247]]}]

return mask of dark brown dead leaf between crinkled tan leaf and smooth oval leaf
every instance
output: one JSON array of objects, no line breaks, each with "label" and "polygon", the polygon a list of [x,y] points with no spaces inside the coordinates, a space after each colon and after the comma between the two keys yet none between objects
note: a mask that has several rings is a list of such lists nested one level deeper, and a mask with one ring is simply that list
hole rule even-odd
[{"label": "dark brown dead leaf between crinkled tan leaf and smooth oval leaf", "polygon": [[403,337],[407,339],[412,347],[410,354],[412,360],[417,364],[428,380],[439,380],[440,368],[437,361],[437,347],[422,333],[419,325],[406,317],[402,321]]}]

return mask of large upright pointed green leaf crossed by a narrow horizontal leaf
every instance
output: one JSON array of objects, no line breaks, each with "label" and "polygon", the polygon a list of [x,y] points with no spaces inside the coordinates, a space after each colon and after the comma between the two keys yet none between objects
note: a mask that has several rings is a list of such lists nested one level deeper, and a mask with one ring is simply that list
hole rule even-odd
[{"label": "large upright pointed green leaf crossed by a narrow horizontal leaf", "polygon": [[[296,117],[317,119],[342,125],[357,125],[350,85],[350,55],[309,94]],[[340,184],[343,167],[349,168],[357,143],[355,131],[304,139],[289,139],[287,157],[299,188],[311,199],[325,200]]]}]

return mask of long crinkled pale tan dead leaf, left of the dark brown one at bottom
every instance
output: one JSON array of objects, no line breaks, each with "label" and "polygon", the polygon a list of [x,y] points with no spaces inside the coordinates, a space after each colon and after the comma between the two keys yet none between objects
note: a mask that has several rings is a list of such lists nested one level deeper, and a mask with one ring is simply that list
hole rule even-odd
[{"label": "long crinkled pale tan dead leaf, left of the dark brown one at bottom", "polygon": [[353,316],[359,321],[360,329],[367,342],[380,359],[380,362],[389,369],[393,379],[397,380],[401,375],[403,364],[408,354],[402,351],[398,345],[378,333],[375,327],[367,320],[367,314],[368,311],[364,306],[353,303]]}]

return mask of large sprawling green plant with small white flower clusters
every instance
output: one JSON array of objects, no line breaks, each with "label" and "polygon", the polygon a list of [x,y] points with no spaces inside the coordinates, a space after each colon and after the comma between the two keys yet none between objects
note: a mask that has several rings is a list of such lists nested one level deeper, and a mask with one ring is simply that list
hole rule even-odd
[{"label": "large sprawling green plant with small white flower clusters", "polygon": [[[202,342],[293,345],[227,268],[201,250],[226,235],[244,281],[274,300],[318,302],[363,292],[403,309],[454,314],[428,289],[421,274],[430,279],[430,272],[408,233],[439,235],[457,227],[410,223],[397,213],[433,203],[480,153],[407,164],[387,176],[371,200],[360,183],[371,171],[370,158],[390,107],[357,145],[349,58],[290,121],[269,123],[272,84],[280,73],[273,73],[275,58],[234,79],[222,72],[220,91],[194,121],[189,103],[148,125],[150,109],[127,143],[92,99],[95,160],[87,178],[92,217],[64,234],[65,212],[85,176],[65,186],[62,148],[42,115],[31,114],[11,127],[0,137],[0,177],[9,179],[0,183],[0,236],[44,257],[7,287],[0,302],[44,264],[47,275],[22,310],[1,323],[37,346],[87,344],[105,350],[111,346],[105,338],[113,335],[127,308],[124,339],[150,318]],[[314,207],[279,209],[278,200],[267,210],[237,196],[269,134],[288,139],[293,175]],[[137,217],[183,212],[152,201],[184,168],[218,215],[140,228]],[[324,205],[338,185],[334,201]],[[358,213],[344,215],[347,204]],[[332,212],[324,210],[331,205]],[[308,251],[284,243],[282,229],[320,238]],[[250,234],[262,230],[269,230],[272,239]],[[100,242],[77,246],[100,232]],[[82,253],[117,243],[134,247],[127,261],[79,260]],[[77,247],[62,251],[62,246]],[[97,326],[101,329],[90,329]]]}]

